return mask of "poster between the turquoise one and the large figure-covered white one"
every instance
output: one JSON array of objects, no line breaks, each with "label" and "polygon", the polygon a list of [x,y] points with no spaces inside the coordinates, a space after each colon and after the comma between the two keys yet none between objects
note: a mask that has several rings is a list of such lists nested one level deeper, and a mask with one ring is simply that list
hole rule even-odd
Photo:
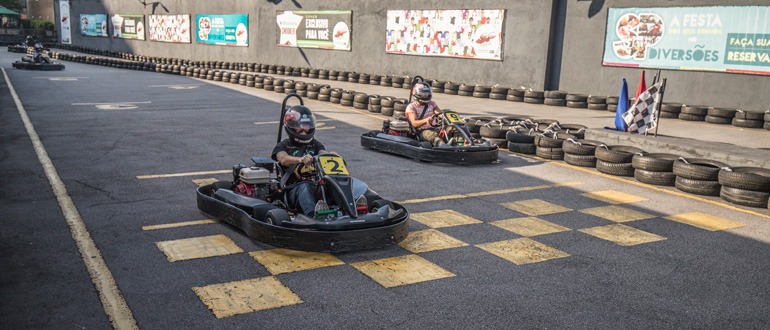
[{"label": "poster between the turquoise one and the large figure-covered white one", "polygon": [[276,14],[278,46],[350,50],[353,11],[282,11]]}]

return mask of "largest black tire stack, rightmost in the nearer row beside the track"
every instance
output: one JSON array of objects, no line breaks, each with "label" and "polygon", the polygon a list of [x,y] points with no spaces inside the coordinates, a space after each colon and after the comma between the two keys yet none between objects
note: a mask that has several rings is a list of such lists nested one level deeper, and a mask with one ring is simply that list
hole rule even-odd
[{"label": "largest black tire stack, rightmost in the nearer row beside the track", "polygon": [[719,197],[738,205],[770,208],[770,170],[761,167],[724,167],[719,170]]}]

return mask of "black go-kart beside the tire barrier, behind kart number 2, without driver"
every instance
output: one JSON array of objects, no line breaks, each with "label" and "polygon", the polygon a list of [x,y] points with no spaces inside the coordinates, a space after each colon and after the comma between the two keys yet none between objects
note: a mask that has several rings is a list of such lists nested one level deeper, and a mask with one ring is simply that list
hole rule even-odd
[{"label": "black go-kart beside the tire barrier, behind kart number 2, without driver", "polygon": [[[412,87],[423,81],[417,76],[412,80]],[[409,102],[412,101],[411,89]],[[435,114],[434,127],[439,128],[439,136],[445,145],[436,147],[429,141],[421,141],[417,130],[405,117],[386,120],[382,130],[370,131],[361,135],[361,146],[372,150],[406,156],[424,162],[450,164],[488,164],[498,161],[499,148],[484,139],[474,138],[465,121],[457,112],[443,110]]]}]

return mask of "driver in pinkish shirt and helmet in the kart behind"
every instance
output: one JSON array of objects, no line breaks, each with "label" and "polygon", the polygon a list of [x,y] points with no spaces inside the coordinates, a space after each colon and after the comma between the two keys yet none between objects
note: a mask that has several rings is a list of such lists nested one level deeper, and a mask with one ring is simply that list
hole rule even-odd
[{"label": "driver in pinkish shirt and helmet in the kart behind", "polygon": [[436,101],[433,101],[433,92],[430,85],[425,82],[418,82],[412,87],[412,97],[414,101],[406,107],[405,115],[409,123],[417,130],[417,135],[421,141],[428,141],[434,147],[446,147],[447,144],[441,139],[438,133],[436,117],[441,109]]}]

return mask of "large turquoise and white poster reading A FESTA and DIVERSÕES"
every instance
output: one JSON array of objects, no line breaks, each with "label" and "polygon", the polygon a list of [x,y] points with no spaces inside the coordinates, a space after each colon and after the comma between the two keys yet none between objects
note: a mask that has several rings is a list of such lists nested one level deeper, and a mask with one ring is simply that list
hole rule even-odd
[{"label": "large turquoise and white poster reading A FESTA and DIVERS\u00d5ES", "polygon": [[770,7],[610,8],[602,64],[770,75]]}]

